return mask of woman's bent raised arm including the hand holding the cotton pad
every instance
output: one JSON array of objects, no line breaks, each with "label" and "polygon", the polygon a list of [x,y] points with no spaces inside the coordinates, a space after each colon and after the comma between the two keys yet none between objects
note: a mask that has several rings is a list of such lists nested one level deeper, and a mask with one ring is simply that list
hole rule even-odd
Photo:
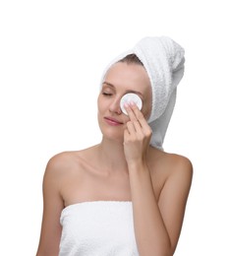
[{"label": "woman's bent raised arm including the hand holding the cotton pad", "polygon": [[183,157],[171,157],[171,172],[157,202],[146,164],[150,127],[138,107],[134,105],[132,109],[127,107],[131,121],[124,135],[124,149],[129,167],[139,252],[141,256],[171,256],[183,223],[192,182],[192,164]]}]

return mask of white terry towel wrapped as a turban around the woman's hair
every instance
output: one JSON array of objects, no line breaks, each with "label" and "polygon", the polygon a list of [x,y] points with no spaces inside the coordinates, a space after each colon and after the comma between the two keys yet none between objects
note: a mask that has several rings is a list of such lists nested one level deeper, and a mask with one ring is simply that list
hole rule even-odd
[{"label": "white terry towel wrapped as a turban around the woman's hair", "polygon": [[152,88],[152,108],[147,122],[152,129],[150,144],[160,150],[176,101],[177,85],[184,75],[185,50],[167,36],[144,37],[133,49],[123,52],[106,67],[108,69],[129,54],[143,62]]}]

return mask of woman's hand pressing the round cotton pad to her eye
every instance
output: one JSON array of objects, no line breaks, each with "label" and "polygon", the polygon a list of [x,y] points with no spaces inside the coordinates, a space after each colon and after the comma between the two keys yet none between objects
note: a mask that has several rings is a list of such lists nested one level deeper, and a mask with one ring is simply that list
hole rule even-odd
[{"label": "woman's hand pressing the round cotton pad to her eye", "polygon": [[143,117],[143,113],[133,102],[126,104],[125,108],[130,117],[124,132],[124,152],[129,163],[144,162],[148,151],[151,128]]}]

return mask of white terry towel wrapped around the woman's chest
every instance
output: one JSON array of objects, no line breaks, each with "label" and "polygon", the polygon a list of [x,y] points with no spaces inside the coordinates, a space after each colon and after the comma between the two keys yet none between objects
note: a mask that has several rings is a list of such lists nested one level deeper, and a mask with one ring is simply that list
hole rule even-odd
[{"label": "white terry towel wrapped around the woman's chest", "polygon": [[139,256],[131,202],[95,201],[62,211],[59,256]]}]

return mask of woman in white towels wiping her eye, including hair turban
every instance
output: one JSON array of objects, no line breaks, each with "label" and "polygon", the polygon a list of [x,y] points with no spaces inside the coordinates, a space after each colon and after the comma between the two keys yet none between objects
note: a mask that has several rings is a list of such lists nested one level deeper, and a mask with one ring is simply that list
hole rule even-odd
[{"label": "woman in white towels wiping her eye, including hair turban", "polygon": [[[183,72],[184,50],[168,37],[145,37],[108,65],[97,99],[101,142],[47,164],[37,256],[174,254],[193,168],[162,143]],[[142,109],[120,105],[130,93]]]}]

